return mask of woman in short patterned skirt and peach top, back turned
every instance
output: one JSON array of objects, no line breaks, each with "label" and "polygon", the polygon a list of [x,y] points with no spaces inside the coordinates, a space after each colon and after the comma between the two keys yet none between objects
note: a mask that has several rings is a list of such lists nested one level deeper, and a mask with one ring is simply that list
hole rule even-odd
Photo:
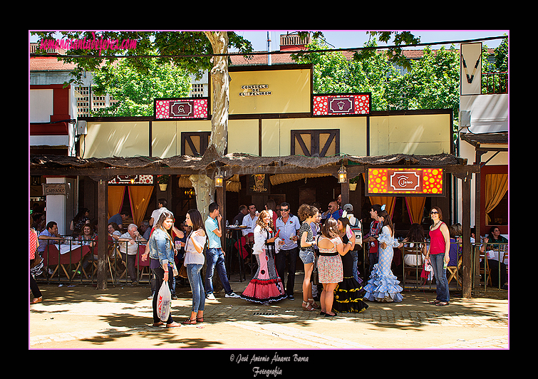
[{"label": "woman in short patterned skirt and peach top, back turned", "polygon": [[336,316],[333,312],[334,289],[343,280],[343,267],[341,255],[345,254],[338,227],[333,218],[326,219],[321,227],[321,236],[318,238],[319,258],[318,275],[319,282],[323,284],[321,291],[321,315],[325,317]]}]

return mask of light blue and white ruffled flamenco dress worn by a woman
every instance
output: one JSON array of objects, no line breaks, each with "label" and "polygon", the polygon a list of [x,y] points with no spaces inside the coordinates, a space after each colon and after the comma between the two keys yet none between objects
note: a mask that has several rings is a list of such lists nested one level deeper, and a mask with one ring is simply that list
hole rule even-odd
[{"label": "light blue and white ruffled flamenco dress worn by a woman", "polygon": [[[373,270],[368,280],[368,284],[364,286],[366,294],[365,300],[383,301],[383,302],[399,302],[402,301],[400,281],[390,270],[390,265],[393,261],[393,247],[398,246],[398,240],[390,235],[390,228],[383,227],[378,238],[379,242],[379,260],[373,266]],[[381,248],[382,243],[386,243],[385,249]]]}]

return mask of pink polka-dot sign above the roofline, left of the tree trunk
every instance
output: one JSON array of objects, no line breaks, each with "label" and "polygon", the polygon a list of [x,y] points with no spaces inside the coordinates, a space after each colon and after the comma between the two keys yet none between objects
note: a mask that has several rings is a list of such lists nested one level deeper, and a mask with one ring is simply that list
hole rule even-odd
[{"label": "pink polka-dot sign above the roofline, left of the tree trunk", "polygon": [[155,119],[208,118],[207,98],[155,99]]}]

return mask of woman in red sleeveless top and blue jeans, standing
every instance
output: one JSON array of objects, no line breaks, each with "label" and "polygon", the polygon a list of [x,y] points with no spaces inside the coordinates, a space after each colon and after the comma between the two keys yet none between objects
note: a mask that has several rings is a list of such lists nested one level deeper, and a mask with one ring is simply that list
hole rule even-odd
[{"label": "woman in red sleeveless top and blue jeans, standing", "polygon": [[447,225],[441,221],[443,214],[440,208],[433,207],[430,217],[433,224],[430,226],[430,248],[426,253],[426,259],[430,259],[435,276],[437,297],[433,303],[436,306],[446,306],[450,301],[446,275],[446,266],[450,261],[450,232]]}]

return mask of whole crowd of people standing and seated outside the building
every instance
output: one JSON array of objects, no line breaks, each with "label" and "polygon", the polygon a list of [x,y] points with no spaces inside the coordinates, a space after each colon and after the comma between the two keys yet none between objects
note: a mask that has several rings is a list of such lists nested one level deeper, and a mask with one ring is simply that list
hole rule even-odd
[{"label": "whole crowd of people standing and seated outside the building", "polygon": [[[433,271],[436,286],[433,304],[445,306],[450,303],[446,269],[447,266],[455,266],[460,257],[457,236],[461,235],[461,226],[458,229],[457,225],[449,227],[445,224],[438,207],[430,210],[432,224],[428,244],[420,224],[411,225],[408,236],[399,242],[384,205],[371,206],[371,224],[366,234],[363,234],[361,221],[353,215],[353,205],[344,204],[341,207],[340,199],[330,202],[326,212],[321,211],[319,203],[301,204],[296,215],[291,212],[289,203],[276,204],[273,199],[269,199],[262,212],[257,212],[255,204],[242,205],[232,220],[232,225],[242,225],[242,235],[235,247],[243,259],[252,258],[250,263],[255,264],[257,271],[242,294],[235,294],[229,284],[224,259],[226,253],[221,243],[227,229],[219,205],[216,202],[209,204],[205,220],[197,209],[190,209],[179,228],[175,226],[177,220],[174,214],[167,209],[167,200],[159,199],[158,205],[149,221],[142,222],[140,227],[127,224],[129,214],[126,212],[113,215],[108,220],[107,236],[113,242],[119,242],[119,251],[113,251],[113,254],[121,255],[133,286],[138,285],[136,256],[140,245],[145,245],[145,251],[140,256],[142,261],[149,259],[152,272],[152,295],[148,298],[152,299],[154,326],[174,328],[181,325],[174,321],[171,314],[166,320],[160,318],[155,296],[162,284],[167,282],[172,298],[177,298],[175,281],[180,278],[178,266],[185,267],[185,279],[192,291],[191,313],[182,321],[185,325],[204,321],[205,301],[215,299],[215,271],[226,297],[266,305],[284,298],[294,301],[298,258],[304,264],[301,284],[301,308],[304,311],[319,312],[321,316],[330,318],[338,313],[366,311],[367,301],[403,301],[403,288],[391,266],[394,249],[413,244],[418,244],[420,254],[417,255],[419,260],[416,261],[415,258],[411,265],[430,264]],[[43,251],[51,240],[59,243],[64,238],[58,234],[56,222],[48,222],[41,231],[36,229],[38,222],[41,222],[41,217],[31,217],[32,303],[42,301],[34,277],[41,274]],[[73,237],[78,238],[81,244],[95,246],[98,241],[88,209],[81,209],[71,222],[70,229]],[[494,229],[484,239],[481,251],[484,251],[488,241],[507,242],[499,235],[498,228]],[[369,263],[368,280],[365,283],[358,275],[358,251],[361,249],[364,249],[365,259]],[[98,258],[96,254],[94,251],[93,254],[86,255],[81,269],[86,270]],[[496,270],[495,267],[498,266],[495,265],[500,265],[500,270]],[[202,274],[204,266],[205,275]],[[490,266],[495,266],[492,273],[501,273],[497,280],[507,289],[506,266],[499,261],[492,261]]]}]

